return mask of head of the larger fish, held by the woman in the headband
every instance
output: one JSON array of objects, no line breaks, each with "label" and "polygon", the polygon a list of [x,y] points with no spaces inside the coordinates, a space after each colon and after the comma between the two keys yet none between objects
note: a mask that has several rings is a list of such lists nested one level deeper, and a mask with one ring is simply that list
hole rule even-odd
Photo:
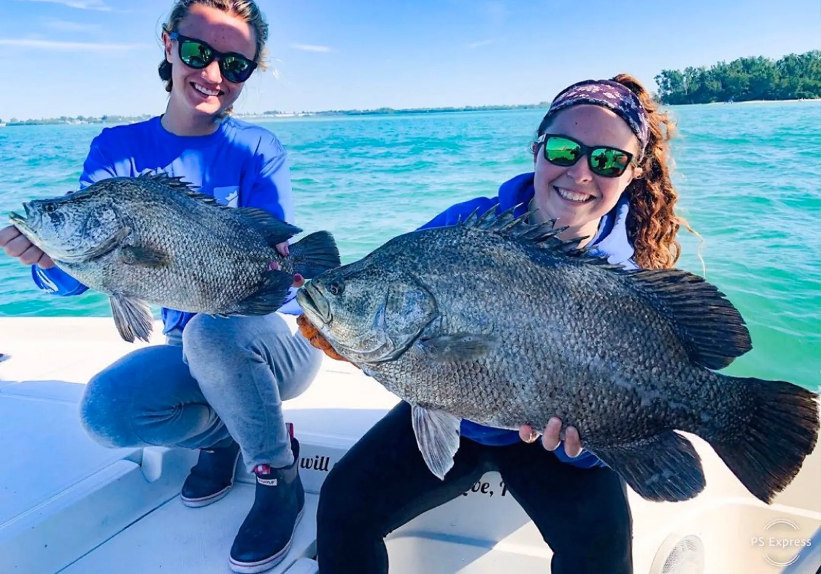
[{"label": "head of the larger fish, held by the woman in the headband", "polygon": [[415,276],[365,260],[310,280],[296,300],[337,353],[357,364],[399,358],[438,316]]}]

